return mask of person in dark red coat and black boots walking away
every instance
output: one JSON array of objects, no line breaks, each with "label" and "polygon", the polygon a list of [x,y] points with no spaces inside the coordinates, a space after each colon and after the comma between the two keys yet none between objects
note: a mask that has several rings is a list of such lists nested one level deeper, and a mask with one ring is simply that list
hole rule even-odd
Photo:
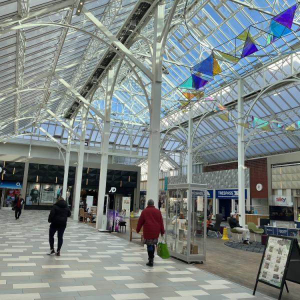
[{"label": "person in dark red coat and black boots walking away", "polygon": [[143,243],[147,245],[148,262],[146,265],[153,266],[155,245],[157,245],[159,233],[161,236],[164,234],[164,226],[162,215],[159,209],[155,208],[154,201],[149,199],[147,207],[141,212],[136,232],[138,233],[143,227]]}]

